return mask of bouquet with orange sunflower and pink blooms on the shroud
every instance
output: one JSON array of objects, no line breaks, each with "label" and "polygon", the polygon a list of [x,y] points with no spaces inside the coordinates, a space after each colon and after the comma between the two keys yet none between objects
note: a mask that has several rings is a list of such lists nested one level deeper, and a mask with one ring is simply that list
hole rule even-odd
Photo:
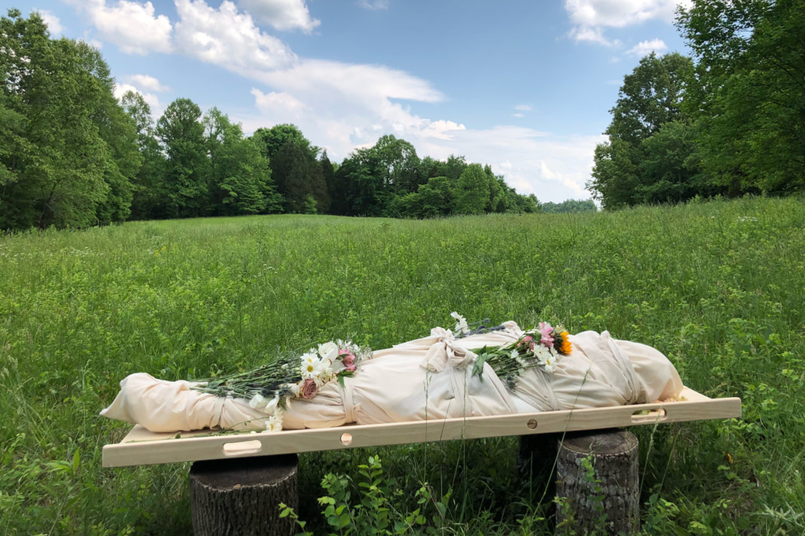
[{"label": "bouquet with orange sunflower and pink blooms on the shroud", "polygon": [[547,322],[539,322],[516,342],[507,346],[484,346],[473,350],[477,354],[473,375],[481,380],[484,363],[492,366],[498,378],[513,389],[526,369],[539,368],[546,373],[555,370],[559,357],[570,354],[572,345],[569,333],[562,326],[553,327]]}]

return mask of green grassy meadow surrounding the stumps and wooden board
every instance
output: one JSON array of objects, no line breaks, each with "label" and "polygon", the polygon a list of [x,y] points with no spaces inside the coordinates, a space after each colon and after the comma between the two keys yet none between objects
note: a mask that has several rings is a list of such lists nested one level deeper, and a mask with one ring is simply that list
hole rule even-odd
[{"label": "green grassy meadow surrounding the stumps and wooden board", "polygon": [[[802,198],[2,236],[0,536],[192,534],[188,464],[101,467],[129,425],[98,411],[126,374],[207,377],[332,338],[381,349],[452,327],[452,311],[609,329],[662,350],[697,391],[741,397],[742,419],[633,428],[646,534],[805,534],[803,296]],[[425,511],[406,534],[552,534],[547,483],[516,476],[517,445],[303,454],[299,516],[327,534],[320,481],[357,482],[379,455],[392,516]]]}]

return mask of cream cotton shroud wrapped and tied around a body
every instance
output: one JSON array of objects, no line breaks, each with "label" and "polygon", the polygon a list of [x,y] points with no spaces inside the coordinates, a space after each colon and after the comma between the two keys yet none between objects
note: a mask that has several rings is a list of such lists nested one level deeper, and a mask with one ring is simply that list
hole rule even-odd
[{"label": "cream cotton shroud wrapped and tied around a body", "polygon": [[[434,328],[428,337],[375,351],[353,377],[344,378],[343,387],[325,383],[312,399],[290,401],[283,428],[620,406],[670,399],[683,389],[662,353],[613,339],[606,331],[571,335],[572,351],[558,360],[553,372],[526,369],[512,389],[487,363],[481,377],[473,375],[472,349],[510,345],[524,335],[514,321],[502,327],[464,338]],[[267,414],[275,409],[250,407],[246,399],[195,391],[192,385],[131,374],[101,415],[142,424],[151,432],[181,432],[265,428]]]}]

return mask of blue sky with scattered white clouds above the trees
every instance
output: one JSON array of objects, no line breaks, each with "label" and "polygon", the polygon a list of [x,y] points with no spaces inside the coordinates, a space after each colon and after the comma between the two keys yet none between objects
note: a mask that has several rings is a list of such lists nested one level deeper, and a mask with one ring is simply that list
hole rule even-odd
[{"label": "blue sky with scattered white clouds above the trees", "polygon": [[337,162],[391,133],[553,202],[589,197],[623,76],[687,53],[675,0],[2,2],[99,47],[155,118],[187,97],[246,133],[294,123]]}]

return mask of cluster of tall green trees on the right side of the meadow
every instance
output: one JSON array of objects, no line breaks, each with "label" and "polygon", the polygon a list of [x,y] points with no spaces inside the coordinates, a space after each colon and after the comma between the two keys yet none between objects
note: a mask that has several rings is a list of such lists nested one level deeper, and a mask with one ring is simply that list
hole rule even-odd
[{"label": "cluster of tall green trees on the right side of the meadow", "polygon": [[693,51],[625,76],[587,184],[605,208],[805,190],[805,0],[695,0]]}]

